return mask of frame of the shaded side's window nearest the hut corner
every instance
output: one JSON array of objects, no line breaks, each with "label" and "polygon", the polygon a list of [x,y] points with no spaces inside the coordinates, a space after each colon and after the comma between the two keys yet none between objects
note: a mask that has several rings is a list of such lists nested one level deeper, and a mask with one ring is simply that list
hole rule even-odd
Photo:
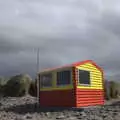
[{"label": "frame of the shaded side's window nearest the hut corner", "polygon": [[[57,84],[57,74],[59,73],[59,72],[64,72],[64,71],[69,71],[70,72],[70,83],[69,84],[61,84],[61,85],[58,85]],[[72,70],[71,69],[63,69],[63,70],[58,70],[58,71],[56,71],[56,87],[65,87],[65,86],[70,86],[70,85],[72,85],[73,84],[73,82],[72,82]]]}]

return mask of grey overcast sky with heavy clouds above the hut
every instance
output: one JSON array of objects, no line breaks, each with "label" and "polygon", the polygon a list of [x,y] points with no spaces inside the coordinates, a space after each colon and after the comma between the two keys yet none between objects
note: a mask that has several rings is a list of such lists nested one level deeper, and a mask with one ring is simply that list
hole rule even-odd
[{"label": "grey overcast sky with heavy clouds above the hut", "polygon": [[0,0],[0,75],[94,60],[120,74],[120,0]]}]

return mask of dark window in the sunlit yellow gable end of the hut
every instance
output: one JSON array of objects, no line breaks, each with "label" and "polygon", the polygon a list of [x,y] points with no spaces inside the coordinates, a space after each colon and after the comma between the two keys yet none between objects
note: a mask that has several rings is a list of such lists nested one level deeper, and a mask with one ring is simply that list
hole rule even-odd
[{"label": "dark window in the sunlit yellow gable end of the hut", "polygon": [[79,70],[79,84],[89,85],[90,84],[90,72],[85,70]]}]

